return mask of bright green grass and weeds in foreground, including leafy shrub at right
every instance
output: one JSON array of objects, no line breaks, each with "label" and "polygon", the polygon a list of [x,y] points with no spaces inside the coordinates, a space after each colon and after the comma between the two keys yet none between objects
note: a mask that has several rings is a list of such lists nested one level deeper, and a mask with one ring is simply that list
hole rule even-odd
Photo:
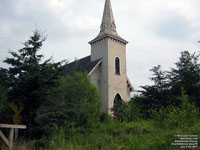
[{"label": "bright green grass and weeds in foreground, including leafy shrub at right", "polygon": [[108,120],[91,129],[73,125],[56,128],[53,137],[40,140],[42,147],[34,147],[35,141],[18,142],[13,150],[180,150],[180,146],[171,145],[175,135],[198,135],[200,145],[199,112],[184,94],[181,100],[180,107],[153,111],[151,120]]}]

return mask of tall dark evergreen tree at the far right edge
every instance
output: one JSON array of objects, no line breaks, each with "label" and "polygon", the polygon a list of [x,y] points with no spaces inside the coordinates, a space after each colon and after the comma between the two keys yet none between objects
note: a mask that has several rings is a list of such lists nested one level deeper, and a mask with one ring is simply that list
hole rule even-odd
[{"label": "tall dark evergreen tree at the far right edge", "polygon": [[176,68],[172,68],[168,73],[171,92],[178,96],[181,88],[184,88],[191,102],[200,108],[200,63],[199,56],[188,51],[181,52],[179,61],[175,63]]}]

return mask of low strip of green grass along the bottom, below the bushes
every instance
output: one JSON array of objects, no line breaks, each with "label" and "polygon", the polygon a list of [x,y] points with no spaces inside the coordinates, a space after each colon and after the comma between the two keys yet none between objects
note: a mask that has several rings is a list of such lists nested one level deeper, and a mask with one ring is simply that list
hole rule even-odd
[{"label": "low strip of green grass along the bottom, below the bushes", "polygon": [[91,130],[59,129],[51,140],[41,139],[44,147],[36,148],[36,141],[18,141],[13,150],[180,150],[180,146],[171,145],[180,139],[175,135],[198,135],[200,139],[200,123],[182,129],[161,129],[152,120],[112,121],[98,124]]}]

